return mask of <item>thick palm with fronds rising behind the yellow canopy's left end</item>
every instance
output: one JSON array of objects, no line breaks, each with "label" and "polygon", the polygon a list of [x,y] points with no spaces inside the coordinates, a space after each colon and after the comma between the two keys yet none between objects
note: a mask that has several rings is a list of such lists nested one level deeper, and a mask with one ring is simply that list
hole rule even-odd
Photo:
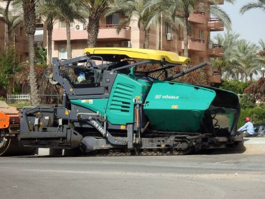
[{"label": "thick palm with fronds rising behind the yellow canopy's left end", "polygon": [[107,0],[81,1],[81,5],[84,7],[83,9],[86,10],[89,15],[89,23],[86,26],[88,47],[95,47],[100,28],[100,16],[105,14],[111,2],[112,1]]}]

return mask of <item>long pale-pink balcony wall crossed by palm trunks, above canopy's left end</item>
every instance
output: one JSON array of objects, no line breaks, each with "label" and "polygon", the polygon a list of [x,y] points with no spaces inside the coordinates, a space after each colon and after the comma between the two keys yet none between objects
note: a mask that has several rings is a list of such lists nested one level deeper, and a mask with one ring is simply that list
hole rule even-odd
[{"label": "long pale-pink balcony wall crossed by palm trunks, above canopy's left end", "polygon": [[[130,40],[130,27],[124,26],[119,34],[116,32],[117,28],[116,24],[100,25],[98,40]],[[86,40],[88,37],[84,29],[71,28],[70,34],[71,40]],[[54,29],[52,40],[66,40],[66,29]]]}]

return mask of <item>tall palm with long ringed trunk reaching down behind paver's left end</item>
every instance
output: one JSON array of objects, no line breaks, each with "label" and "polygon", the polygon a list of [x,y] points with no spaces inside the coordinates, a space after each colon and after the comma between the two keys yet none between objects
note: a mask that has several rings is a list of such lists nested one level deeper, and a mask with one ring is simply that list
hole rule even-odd
[{"label": "tall palm with long ringed trunk reaching down behind paver's left end", "polygon": [[24,24],[29,39],[29,84],[31,86],[31,102],[33,105],[39,104],[38,86],[36,83],[36,71],[34,68],[35,50],[34,34],[36,31],[36,10],[38,0],[22,0],[24,11]]}]

